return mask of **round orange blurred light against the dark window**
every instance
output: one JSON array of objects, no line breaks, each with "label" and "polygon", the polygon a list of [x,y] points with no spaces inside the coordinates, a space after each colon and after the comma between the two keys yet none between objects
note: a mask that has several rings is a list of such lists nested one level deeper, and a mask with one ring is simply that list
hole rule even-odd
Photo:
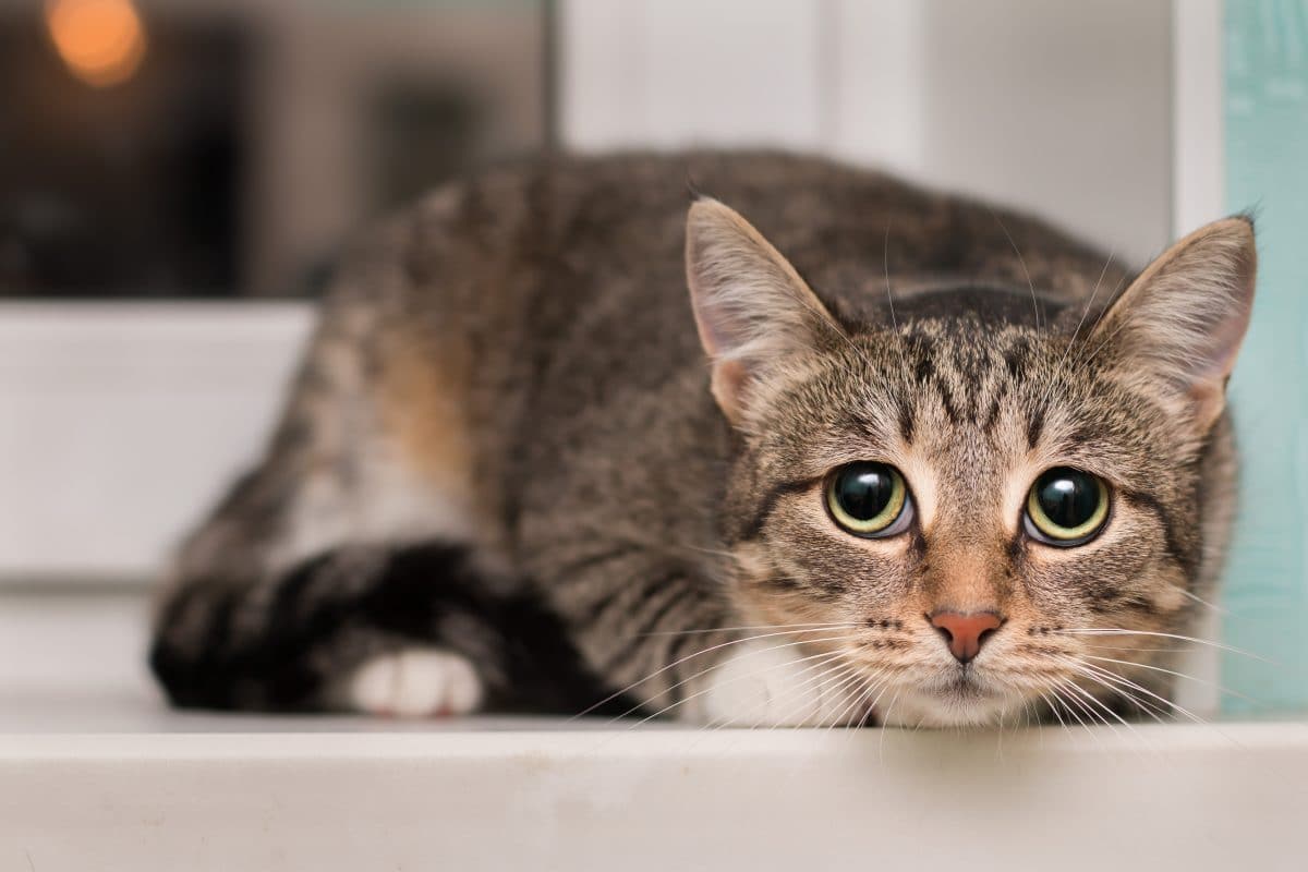
[{"label": "round orange blurred light against the dark window", "polygon": [[145,59],[145,27],[131,0],[47,0],[46,27],[68,69],[94,88],[127,81]]}]

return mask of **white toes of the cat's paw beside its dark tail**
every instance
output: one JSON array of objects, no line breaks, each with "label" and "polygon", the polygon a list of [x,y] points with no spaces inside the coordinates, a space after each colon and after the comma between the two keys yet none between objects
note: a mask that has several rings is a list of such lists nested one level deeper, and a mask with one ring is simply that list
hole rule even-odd
[{"label": "white toes of the cat's paw beside its dark tail", "polygon": [[349,677],[347,705],[394,718],[463,715],[481,702],[481,680],[466,658],[407,648],[365,662]]}]

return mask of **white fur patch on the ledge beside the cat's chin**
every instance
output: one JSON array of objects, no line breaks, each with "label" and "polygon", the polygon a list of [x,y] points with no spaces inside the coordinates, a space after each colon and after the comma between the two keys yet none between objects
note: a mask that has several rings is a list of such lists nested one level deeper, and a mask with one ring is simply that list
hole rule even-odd
[{"label": "white fur patch on the ledge beside the cat's chin", "polygon": [[[747,642],[709,676],[695,719],[713,727],[827,727],[870,720],[853,681],[825,656]],[[862,703],[862,705],[861,705]]]}]

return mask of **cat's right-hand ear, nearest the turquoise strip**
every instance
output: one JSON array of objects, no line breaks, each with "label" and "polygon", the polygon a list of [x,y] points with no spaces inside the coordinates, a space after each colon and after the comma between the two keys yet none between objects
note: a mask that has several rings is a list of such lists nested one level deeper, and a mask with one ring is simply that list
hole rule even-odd
[{"label": "cat's right-hand ear, nearest the turquoise strip", "polygon": [[1249,218],[1206,225],[1151,263],[1090,341],[1110,343],[1127,366],[1176,390],[1206,433],[1249,327],[1257,263]]}]

